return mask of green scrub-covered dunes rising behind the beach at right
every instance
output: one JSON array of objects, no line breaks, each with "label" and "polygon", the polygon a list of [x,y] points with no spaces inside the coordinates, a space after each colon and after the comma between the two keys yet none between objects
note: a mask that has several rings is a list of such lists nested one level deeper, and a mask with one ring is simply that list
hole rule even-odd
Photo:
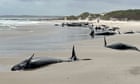
[{"label": "green scrub-covered dunes rising behind the beach at right", "polygon": [[81,13],[77,16],[67,16],[68,20],[77,20],[77,19],[96,19],[101,18],[104,20],[140,20],[140,9],[129,9],[129,10],[117,10],[111,11],[104,14],[94,14],[89,12]]}]

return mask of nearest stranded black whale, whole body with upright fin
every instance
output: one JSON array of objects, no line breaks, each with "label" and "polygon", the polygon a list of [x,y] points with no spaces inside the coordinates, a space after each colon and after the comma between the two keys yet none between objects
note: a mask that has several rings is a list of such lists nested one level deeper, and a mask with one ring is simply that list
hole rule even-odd
[{"label": "nearest stranded black whale, whole body with upright fin", "polygon": [[72,56],[69,59],[56,59],[56,58],[35,58],[34,54],[29,58],[26,59],[19,64],[14,65],[11,68],[11,71],[17,71],[17,70],[33,70],[37,68],[41,68],[43,66],[48,66],[51,64],[56,64],[56,63],[62,63],[62,62],[73,62],[73,61],[78,61],[78,60],[91,60],[91,59],[78,59],[76,57],[75,53],[75,48],[73,46],[72,49]]}]

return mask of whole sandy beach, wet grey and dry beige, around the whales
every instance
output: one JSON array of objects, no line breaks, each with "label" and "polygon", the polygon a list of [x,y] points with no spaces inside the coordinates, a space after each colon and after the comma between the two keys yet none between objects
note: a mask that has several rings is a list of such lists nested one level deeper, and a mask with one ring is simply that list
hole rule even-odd
[{"label": "whole sandy beach, wet grey and dry beige, around the whales", "polygon": [[[121,33],[130,30],[138,32],[128,35],[118,34],[115,36],[109,36],[107,37],[107,41],[108,44],[121,42],[136,46],[140,49],[140,22],[100,21],[100,24],[106,24],[111,27],[117,26],[120,28]],[[12,49],[9,49],[9,51],[0,51],[2,53],[0,55],[0,84],[140,83],[140,52],[134,50],[121,51],[105,48],[103,38],[91,38],[89,36],[90,30],[88,28],[82,29],[78,33],[78,35],[80,34],[79,39],[79,36],[77,36],[79,28],[71,28],[71,30],[67,30],[67,28],[62,29],[62,27],[53,27],[50,30],[48,25],[46,27],[46,23],[19,27],[20,28],[16,29],[16,31],[4,31],[0,33],[1,46],[2,44],[5,44],[7,45],[6,49],[8,46],[15,48],[13,51]],[[49,31],[47,28],[49,28]],[[73,36],[71,36],[71,34],[66,35],[73,30],[77,31],[73,33],[77,37],[72,38]],[[43,42],[48,42],[48,39],[45,40],[45,37],[51,36],[53,38],[53,35],[60,35],[62,32],[65,32],[66,37],[63,37],[64,35],[62,34],[63,41],[62,39],[57,39],[58,42],[54,43],[56,44],[55,48],[57,49],[55,50],[53,46],[46,48],[48,45]],[[42,38],[40,39],[42,41],[40,45],[38,44],[38,39],[36,39],[37,37]],[[17,39],[19,41],[16,41]],[[25,46],[26,41],[24,41],[24,39],[29,40],[27,42],[27,47]],[[9,43],[7,41],[10,41],[12,44],[8,45]],[[32,44],[32,41],[35,42],[34,45]],[[50,42],[54,41],[56,40],[51,40]],[[19,45],[17,45],[18,43],[19,45],[23,45],[25,49],[20,46],[20,51]],[[13,65],[21,62],[25,58],[28,58],[32,53],[35,53],[35,56],[37,57],[51,56],[62,59],[69,58],[71,56],[73,45],[75,45],[76,55],[78,58],[90,58],[92,60],[58,63],[31,71],[10,71]],[[5,46],[3,47],[5,48]]]}]

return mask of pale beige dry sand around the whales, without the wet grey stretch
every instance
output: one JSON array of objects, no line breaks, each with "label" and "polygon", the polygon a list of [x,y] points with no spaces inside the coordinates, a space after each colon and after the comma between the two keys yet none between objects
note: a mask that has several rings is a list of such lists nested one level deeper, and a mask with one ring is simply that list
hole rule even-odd
[{"label": "pale beige dry sand around the whales, without the wet grey stretch", "polygon": [[[108,22],[121,30],[139,31],[140,22]],[[116,35],[108,37],[109,44],[123,42],[140,48],[140,34]],[[105,48],[103,38],[74,42],[79,58],[90,61],[59,63],[33,71],[11,72],[12,65],[20,62],[29,53],[20,57],[0,57],[0,84],[139,84],[140,52],[119,51]],[[71,44],[67,45],[71,48]],[[67,58],[71,51],[38,52],[37,56]]]}]

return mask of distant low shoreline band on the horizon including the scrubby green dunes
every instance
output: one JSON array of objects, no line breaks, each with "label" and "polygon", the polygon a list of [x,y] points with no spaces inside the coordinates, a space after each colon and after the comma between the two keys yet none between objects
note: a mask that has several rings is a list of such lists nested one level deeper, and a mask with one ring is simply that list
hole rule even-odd
[{"label": "distant low shoreline band on the horizon including the scrubby green dunes", "polygon": [[116,10],[106,13],[91,13],[91,12],[83,12],[79,15],[65,15],[65,16],[37,16],[37,15],[1,15],[0,19],[4,20],[94,20],[100,18],[102,20],[119,20],[119,21],[130,21],[140,20],[140,9],[128,9],[128,10]]}]

